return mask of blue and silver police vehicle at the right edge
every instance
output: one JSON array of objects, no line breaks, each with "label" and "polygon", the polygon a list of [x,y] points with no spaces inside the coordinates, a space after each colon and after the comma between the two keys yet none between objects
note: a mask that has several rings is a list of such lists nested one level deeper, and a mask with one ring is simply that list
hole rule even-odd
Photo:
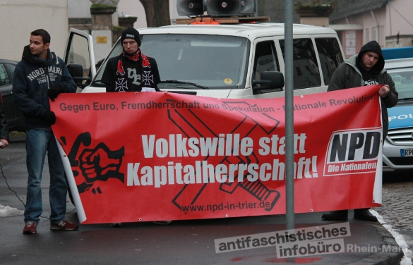
[{"label": "blue and silver police vehicle at the right edge", "polygon": [[388,109],[388,136],[383,171],[413,168],[413,47],[383,49],[385,69],[393,78],[399,101]]}]

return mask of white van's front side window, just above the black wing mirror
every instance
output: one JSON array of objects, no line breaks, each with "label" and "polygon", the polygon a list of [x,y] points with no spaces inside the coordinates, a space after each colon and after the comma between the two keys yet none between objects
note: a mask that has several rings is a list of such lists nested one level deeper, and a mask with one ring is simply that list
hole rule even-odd
[{"label": "white van's front side window, just above the black wing mirror", "polygon": [[273,41],[258,42],[258,44],[256,44],[252,75],[253,80],[261,80],[261,73],[264,71],[280,71]]}]

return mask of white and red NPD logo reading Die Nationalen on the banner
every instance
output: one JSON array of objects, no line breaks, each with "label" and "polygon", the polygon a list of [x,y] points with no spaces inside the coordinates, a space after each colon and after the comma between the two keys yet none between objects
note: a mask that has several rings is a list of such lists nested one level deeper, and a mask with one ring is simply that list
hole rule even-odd
[{"label": "white and red NPD logo reading Die Nationalen on the banner", "polygon": [[324,175],[375,172],[380,150],[381,128],[333,132]]}]

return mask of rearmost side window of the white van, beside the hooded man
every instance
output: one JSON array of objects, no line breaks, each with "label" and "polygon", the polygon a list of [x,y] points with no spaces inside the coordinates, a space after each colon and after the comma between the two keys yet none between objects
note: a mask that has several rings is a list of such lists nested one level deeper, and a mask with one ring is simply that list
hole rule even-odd
[{"label": "rearmost side window of the white van, beside the hooded man", "polygon": [[344,61],[340,45],[335,38],[318,38],[316,39],[316,46],[318,57],[320,57],[321,70],[323,71],[324,84],[329,85],[335,68]]}]

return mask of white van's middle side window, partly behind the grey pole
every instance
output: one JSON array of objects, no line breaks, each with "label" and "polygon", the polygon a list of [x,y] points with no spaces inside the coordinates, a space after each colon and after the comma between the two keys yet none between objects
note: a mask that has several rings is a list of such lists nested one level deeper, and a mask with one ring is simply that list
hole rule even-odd
[{"label": "white van's middle side window, partly behind the grey pole", "polygon": [[[282,56],[285,58],[285,41],[280,40]],[[311,39],[293,40],[294,90],[320,87],[321,78],[316,52]]]}]

